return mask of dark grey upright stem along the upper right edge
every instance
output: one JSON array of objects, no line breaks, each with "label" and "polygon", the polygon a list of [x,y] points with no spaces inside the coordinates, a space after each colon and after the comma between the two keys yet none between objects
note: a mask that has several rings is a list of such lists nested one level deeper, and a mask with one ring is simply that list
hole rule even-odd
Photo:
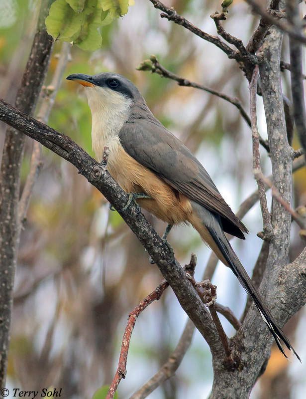
[{"label": "dark grey upright stem along the upper right edge", "polygon": [[[299,2],[297,0],[287,0],[286,5],[288,21],[301,32],[302,25],[298,8]],[[293,115],[300,143],[306,153],[306,110],[303,85],[302,45],[301,42],[293,36],[289,37],[289,44]]]}]

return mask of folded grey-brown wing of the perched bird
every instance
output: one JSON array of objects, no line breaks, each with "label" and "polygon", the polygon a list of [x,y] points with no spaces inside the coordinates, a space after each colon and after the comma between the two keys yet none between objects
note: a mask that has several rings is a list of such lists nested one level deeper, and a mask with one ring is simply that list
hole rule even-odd
[{"label": "folded grey-brown wing of the perched bird", "polygon": [[225,232],[244,238],[247,228],[223,200],[204,167],[151,112],[146,113],[146,118],[131,117],[121,128],[119,139],[137,162],[179,193],[219,214]]}]

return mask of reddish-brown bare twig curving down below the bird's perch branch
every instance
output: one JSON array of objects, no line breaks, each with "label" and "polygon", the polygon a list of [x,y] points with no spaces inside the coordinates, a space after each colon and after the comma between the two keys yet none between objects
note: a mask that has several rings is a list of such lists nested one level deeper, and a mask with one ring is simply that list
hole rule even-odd
[{"label": "reddish-brown bare twig curving down below the bird's perch branch", "polygon": [[115,395],[115,392],[117,390],[117,387],[121,381],[121,379],[125,378],[126,376],[126,360],[127,360],[127,353],[129,349],[129,344],[131,340],[131,335],[136,323],[136,320],[140,313],[145,310],[147,306],[149,306],[153,301],[159,300],[160,297],[162,296],[163,292],[165,289],[169,286],[166,280],[163,280],[158,287],[155,288],[154,291],[151,292],[148,296],[146,296],[138,306],[129,314],[128,316],[128,322],[125,327],[123,339],[122,339],[122,345],[121,345],[121,351],[120,351],[120,357],[119,357],[119,364],[118,368],[115,374],[115,377],[109,387],[108,393],[106,395],[105,399],[112,399]]}]

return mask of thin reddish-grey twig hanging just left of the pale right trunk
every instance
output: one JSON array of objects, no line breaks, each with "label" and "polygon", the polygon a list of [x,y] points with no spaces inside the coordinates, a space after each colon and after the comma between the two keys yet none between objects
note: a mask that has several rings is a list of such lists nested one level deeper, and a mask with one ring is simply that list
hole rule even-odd
[{"label": "thin reddish-grey twig hanging just left of the pale right trunk", "polygon": [[259,153],[259,134],[257,128],[256,115],[256,91],[258,81],[258,66],[256,65],[253,71],[253,77],[250,83],[250,109],[252,121],[252,143],[253,143],[253,171],[258,186],[259,201],[263,218],[263,230],[265,239],[272,239],[272,223],[271,215],[268,210],[266,191],[263,182],[257,178],[256,171],[261,172],[260,153]]}]

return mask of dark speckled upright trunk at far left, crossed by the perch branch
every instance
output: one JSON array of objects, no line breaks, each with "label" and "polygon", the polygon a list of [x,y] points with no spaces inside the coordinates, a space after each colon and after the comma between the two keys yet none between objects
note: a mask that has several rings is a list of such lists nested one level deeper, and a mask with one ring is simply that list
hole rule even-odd
[{"label": "dark speckled upright trunk at far left, crossed by the perch branch", "polygon": [[[52,37],[45,28],[45,18],[52,0],[42,1],[30,56],[23,74],[15,106],[33,114],[48,70]],[[15,277],[20,223],[18,201],[20,169],[25,136],[13,128],[6,132],[0,172],[0,385],[5,385],[12,291]]]}]

